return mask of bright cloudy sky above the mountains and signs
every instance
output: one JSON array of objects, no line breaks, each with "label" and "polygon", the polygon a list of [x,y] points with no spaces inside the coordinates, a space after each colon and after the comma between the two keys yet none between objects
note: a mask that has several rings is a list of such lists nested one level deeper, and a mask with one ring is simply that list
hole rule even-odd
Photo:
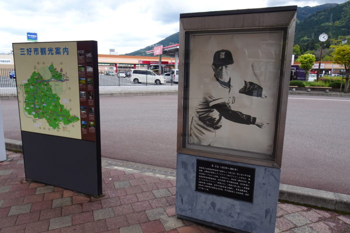
[{"label": "bright cloudy sky above the mountains and signs", "polygon": [[346,0],[0,0],[0,53],[12,42],[97,40],[98,53],[119,54],[154,44],[179,31],[179,14],[190,12],[315,6]]}]

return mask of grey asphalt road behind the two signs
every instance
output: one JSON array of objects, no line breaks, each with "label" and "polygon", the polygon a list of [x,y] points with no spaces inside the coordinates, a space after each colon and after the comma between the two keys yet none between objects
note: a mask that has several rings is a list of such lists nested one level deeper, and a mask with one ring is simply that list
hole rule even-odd
[{"label": "grey asphalt road behind the two signs", "polygon": [[[16,100],[1,100],[5,138],[21,140]],[[176,167],[177,96],[101,97],[102,156]],[[350,195],[350,99],[291,95],[281,183]]]}]

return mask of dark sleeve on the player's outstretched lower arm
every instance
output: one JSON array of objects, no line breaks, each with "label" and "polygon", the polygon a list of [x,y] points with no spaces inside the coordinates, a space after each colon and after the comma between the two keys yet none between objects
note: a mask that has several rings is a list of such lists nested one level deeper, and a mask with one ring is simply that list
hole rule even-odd
[{"label": "dark sleeve on the player's outstretched lower arm", "polygon": [[218,111],[222,117],[235,123],[252,125],[256,122],[256,117],[251,117],[250,115],[234,111],[227,103],[215,104],[213,105],[213,108],[215,108],[215,110]]}]

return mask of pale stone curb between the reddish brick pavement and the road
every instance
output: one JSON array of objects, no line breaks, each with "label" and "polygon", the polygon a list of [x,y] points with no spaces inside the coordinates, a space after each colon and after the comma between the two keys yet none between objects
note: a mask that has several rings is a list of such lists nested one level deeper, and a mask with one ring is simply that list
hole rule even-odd
[{"label": "pale stone curb between the reddish brick pavement and the road", "polygon": [[[10,151],[22,151],[22,142],[5,138],[5,149]],[[160,176],[174,180],[176,170],[161,168],[146,164],[128,162],[123,160],[101,158],[102,167],[121,169],[123,171],[136,172],[151,176]],[[329,210],[349,212],[350,195],[327,192],[316,189],[303,188],[292,185],[279,184],[279,200],[303,205],[326,208]]]}]

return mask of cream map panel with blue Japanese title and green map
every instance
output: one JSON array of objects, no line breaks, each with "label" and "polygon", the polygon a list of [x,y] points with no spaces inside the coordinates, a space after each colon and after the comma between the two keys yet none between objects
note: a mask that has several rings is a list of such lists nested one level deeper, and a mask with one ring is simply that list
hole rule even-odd
[{"label": "cream map panel with blue Japanese title and green map", "polygon": [[81,139],[76,42],[14,43],[22,131]]}]

